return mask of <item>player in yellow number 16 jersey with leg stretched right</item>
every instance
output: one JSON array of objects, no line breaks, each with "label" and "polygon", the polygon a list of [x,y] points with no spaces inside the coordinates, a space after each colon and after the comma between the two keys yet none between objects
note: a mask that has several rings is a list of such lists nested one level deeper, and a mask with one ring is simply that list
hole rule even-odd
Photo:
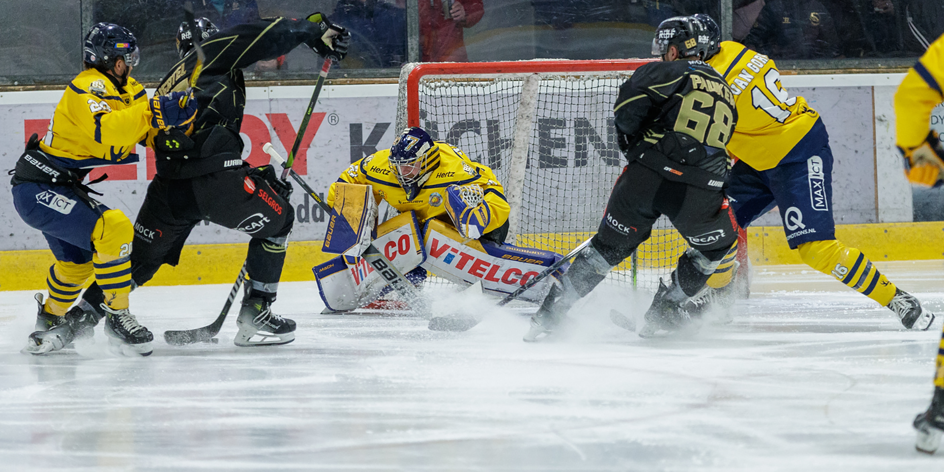
[{"label": "player in yellow number 16 jersey with leg stretched right", "polygon": [[[741,228],[778,207],[791,249],[802,261],[866,295],[898,316],[906,329],[928,329],[935,315],[896,287],[865,254],[835,239],[833,153],[826,126],[801,96],[790,96],[774,61],[738,42],[720,42],[720,29],[697,14],[716,46],[706,62],[734,94],[737,125],[728,143],[737,159],[728,197]],[[719,267],[709,289],[693,300],[699,308],[730,288],[733,267]]]}]

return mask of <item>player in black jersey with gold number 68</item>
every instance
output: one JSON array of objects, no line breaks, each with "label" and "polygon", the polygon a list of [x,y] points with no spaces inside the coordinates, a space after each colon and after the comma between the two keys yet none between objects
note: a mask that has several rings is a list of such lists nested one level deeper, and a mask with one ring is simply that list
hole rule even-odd
[{"label": "player in black jersey with gold number 68", "polygon": [[708,48],[699,20],[669,18],[652,42],[652,54],[662,61],[643,65],[619,88],[615,126],[629,164],[616,179],[597,234],[531,317],[525,341],[553,331],[574,302],[649,239],[660,215],[691,247],[668,285],[660,282],[637,328],[641,336],[683,328],[689,321],[684,301],[734,250],[737,231],[722,187],[730,169],[724,147],[737,113],[731,90],[701,60]]}]

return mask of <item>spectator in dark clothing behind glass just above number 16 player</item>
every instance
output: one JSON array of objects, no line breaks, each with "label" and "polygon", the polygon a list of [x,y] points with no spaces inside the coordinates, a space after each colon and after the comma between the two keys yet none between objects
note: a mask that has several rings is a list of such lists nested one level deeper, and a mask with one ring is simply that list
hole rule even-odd
[{"label": "spectator in dark clothing behind glass just above number 16 player", "polygon": [[818,0],[770,0],[744,44],[773,59],[834,59],[839,39],[833,17]]}]

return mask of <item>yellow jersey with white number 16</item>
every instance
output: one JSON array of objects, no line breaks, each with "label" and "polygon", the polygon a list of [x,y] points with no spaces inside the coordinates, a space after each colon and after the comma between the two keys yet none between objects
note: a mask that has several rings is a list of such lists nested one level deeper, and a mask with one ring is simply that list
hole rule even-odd
[{"label": "yellow jersey with white number 16", "polygon": [[734,94],[737,125],[728,151],[750,167],[772,169],[817,123],[819,113],[780,83],[774,61],[733,41],[708,59]]}]

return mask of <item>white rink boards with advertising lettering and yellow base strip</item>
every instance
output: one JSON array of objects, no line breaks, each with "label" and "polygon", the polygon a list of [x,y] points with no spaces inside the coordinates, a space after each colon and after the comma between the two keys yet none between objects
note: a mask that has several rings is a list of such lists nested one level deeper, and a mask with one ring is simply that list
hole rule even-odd
[{"label": "white rink boards with advertising lettering and yellow base strip", "polygon": [[[910,186],[902,176],[902,163],[894,147],[892,96],[902,74],[849,74],[834,76],[783,76],[791,94],[806,97],[817,109],[830,132],[833,146],[834,212],[838,233],[848,244],[862,248],[877,260],[941,259],[934,251],[920,251],[909,239],[916,234],[940,237],[937,223],[912,224]],[[148,93],[153,93],[149,90]],[[279,153],[295,140],[312,86],[250,87],[247,89],[243,139],[244,159],[259,165],[269,161],[263,143],[272,142]],[[353,160],[385,147],[396,135],[396,84],[329,85],[321,94],[309,133],[303,141],[295,168],[316,190],[329,184]],[[0,161],[13,167],[25,139],[44,132],[61,92],[0,93]],[[936,110],[936,123],[944,122],[944,110]],[[311,140],[309,141],[309,137]],[[564,134],[562,137],[567,138]],[[464,139],[466,139],[464,137]],[[468,139],[484,139],[470,135]],[[110,178],[96,185],[101,200],[119,208],[133,220],[153,176],[153,154],[138,148],[137,164],[103,169]],[[477,156],[471,156],[477,159]],[[102,171],[96,171],[97,173]],[[326,228],[322,211],[302,192],[292,196],[296,225],[283,280],[312,280],[311,267],[325,256],[319,240]],[[9,182],[0,182],[0,290],[42,288],[52,256],[41,234],[25,226],[13,211]],[[901,225],[886,225],[896,223]],[[882,224],[882,225],[878,225]],[[750,228],[751,261],[799,263],[785,248],[779,215],[771,212]],[[894,237],[888,236],[891,233]],[[910,236],[909,236],[910,235]],[[198,225],[189,239],[177,269],[161,269],[152,283],[227,283],[238,272],[248,237],[237,231]],[[912,241],[911,244],[902,242]],[[871,250],[874,248],[874,250]],[[939,251],[938,251],[939,252]]]}]

